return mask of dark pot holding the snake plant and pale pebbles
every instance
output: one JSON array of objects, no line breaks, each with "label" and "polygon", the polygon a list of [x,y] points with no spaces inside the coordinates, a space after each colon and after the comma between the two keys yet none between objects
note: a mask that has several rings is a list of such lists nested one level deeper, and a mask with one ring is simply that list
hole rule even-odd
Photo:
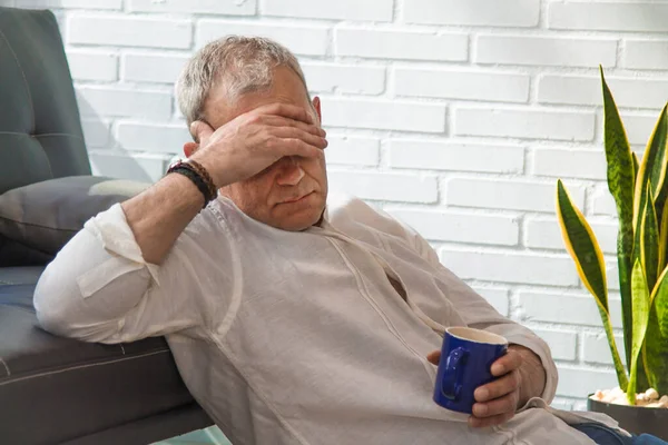
[{"label": "dark pot holding the snake plant and pale pebbles", "polygon": [[668,408],[616,405],[587,399],[587,409],[603,413],[619,422],[619,426],[632,434],[652,434],[668,441]]}]

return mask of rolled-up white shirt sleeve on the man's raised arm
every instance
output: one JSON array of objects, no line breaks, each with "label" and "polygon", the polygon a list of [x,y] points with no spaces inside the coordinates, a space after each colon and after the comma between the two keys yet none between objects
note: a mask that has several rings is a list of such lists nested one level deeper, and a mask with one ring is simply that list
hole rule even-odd
[{"label": "rolled-up white shirt sleeve on the man's raised arm", "polygon": [[[41,326],[100,343],[200,326],[208,309],[204,295],[215,287],[224,293],[230,280],[224,275],[216,284],[199,279],[210,270],[196,265],[213,260],[196,239],[206,231],[185,230],[158,266],[144,260],[120,205],[91,218],[37,284],[35,307]],[[224,255],[224,243],[216,251]]]}]

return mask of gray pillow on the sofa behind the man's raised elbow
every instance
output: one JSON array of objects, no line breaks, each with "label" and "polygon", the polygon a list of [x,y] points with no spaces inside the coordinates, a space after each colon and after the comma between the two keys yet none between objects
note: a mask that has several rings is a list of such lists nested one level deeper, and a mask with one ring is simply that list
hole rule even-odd
[{"label": "gray pillow on the sofa behind the man's raised elbow", "polygon": [[0,195],[0,235],[56,255],[88,219],[148,186],[101,176],[70,176],[14,188]]}]

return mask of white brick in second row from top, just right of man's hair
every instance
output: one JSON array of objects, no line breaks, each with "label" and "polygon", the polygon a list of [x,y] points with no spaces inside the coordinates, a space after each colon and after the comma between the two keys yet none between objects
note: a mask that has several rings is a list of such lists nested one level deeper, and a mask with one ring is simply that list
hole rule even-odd
[{"label": "white brick in second row from top, just right of man's hair", "polygon": [[373,59],[465,61],[469,39],[463,33],[379,31],[338,28],[334,39],[337,56]]}]

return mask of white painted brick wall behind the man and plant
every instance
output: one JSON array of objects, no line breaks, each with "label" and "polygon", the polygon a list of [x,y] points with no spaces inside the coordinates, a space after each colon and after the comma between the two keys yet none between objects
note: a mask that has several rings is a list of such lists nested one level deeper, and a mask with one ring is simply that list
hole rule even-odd
[{"label": "white painted brick wall behind the man and plant", "polygon": [[613,384],[598,310],[563,249],[554,182],[564,178],[613,260],[598,65],[641,151],[668,98],[665,1],[0,4],[55,10],[92,167],[124,178],[158,179],[189,140],[173,85],[197,48],[228,33],[279,40],[322,95],[332,188],[414,226],[494,307],[537,329],[562,373],[557,406]]}]

